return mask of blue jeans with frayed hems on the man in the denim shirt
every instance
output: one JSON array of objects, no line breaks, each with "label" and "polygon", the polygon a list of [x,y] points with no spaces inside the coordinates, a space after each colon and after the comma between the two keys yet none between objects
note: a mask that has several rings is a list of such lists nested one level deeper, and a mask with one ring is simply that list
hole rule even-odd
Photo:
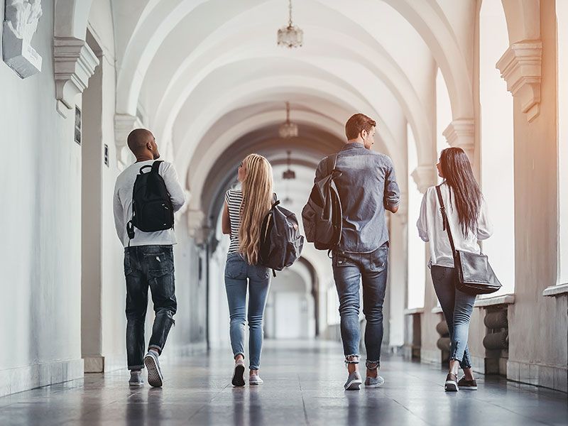
[{"label": "blue jeans with frayed hems on the man in the denim shirt", "polygon": [[359,283],[363,281],[363,313],[367,362],[379,363],[383,342],[383,301],[388,271],[388,242],[372,253],[334,252],[333,276],[345,358],[359,356]]}]

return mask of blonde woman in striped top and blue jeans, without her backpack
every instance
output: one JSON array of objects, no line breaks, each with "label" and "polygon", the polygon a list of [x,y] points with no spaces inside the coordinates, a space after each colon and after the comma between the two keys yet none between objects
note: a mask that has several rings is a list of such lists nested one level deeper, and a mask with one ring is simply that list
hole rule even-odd
[{"label": "blonde woman in striped top and blue jeans, without her backpack", "polygon": [[241,190],[225,195],[223,234],[231,236],[225,266],[225,289],[231,317],[231,348],[235,359],[233,386],[244,386],[244,324],[246,288],[249,286],[249,384],[263,383],[258,376],[263,342],[262,317],[270,285],[270,269],[258,265],[263,218],[272,207],[272,167],[258,154],[247,155],[239,165]]}]

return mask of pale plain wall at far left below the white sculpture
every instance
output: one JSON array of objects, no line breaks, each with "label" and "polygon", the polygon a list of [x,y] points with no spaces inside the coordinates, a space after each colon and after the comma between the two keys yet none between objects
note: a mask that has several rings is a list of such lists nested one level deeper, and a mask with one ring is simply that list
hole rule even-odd
[{"label": "pale plain wall at far left below the white sculpture", "polygon": [[0,354],[0,395],[77,378],[83,368],[81,147],[73,117],[55,109],[53,1],[42,6],[32,40],[42,72],[21,80],[0,62],[0,290],[9,303],[0,339],[10,345]]}]

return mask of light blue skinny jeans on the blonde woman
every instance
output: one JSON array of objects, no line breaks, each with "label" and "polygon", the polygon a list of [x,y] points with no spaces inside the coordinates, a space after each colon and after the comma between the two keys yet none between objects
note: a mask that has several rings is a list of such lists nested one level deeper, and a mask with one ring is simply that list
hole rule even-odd
[{"label": "light blue skinny jeans on the blonde woman", "polygon": [[271,272],[266,266],[249,265],[239,253],[229,254],[225,265],[225,290],[231,317],[230,336],[233,355],[244,357],[244,322],[246,316],[246,287],[249,285],[249,368],[258,370],[263,342],[262,317]]}]

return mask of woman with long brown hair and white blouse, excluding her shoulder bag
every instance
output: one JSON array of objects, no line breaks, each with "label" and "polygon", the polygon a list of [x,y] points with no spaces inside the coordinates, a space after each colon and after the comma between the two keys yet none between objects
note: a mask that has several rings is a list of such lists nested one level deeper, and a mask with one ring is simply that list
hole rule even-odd
[{"label": "woman with long brown hair and white blouse, excluding her shoulder bag", "polygon": [[[471,164],[461,148],[446,148],[439,156],[438,175],[444,179],[439,190],[447,215],[446,226],[452,231],[456,250],[479,253],[479,240],[489,238],[493,226],[488,219],[487,204],[477,184]],[[476,390],[467,347],[469,318],[474,309],[475,295],[455,288],[457,279],[454,256],[442,220],[437,187],[427,189],[418,218],[418,234],[430,243],[432,283],[442,306],[451,340],[449,373],[444,383],[446,391]],[[458,368],[464,377],[457,380]]]}]

